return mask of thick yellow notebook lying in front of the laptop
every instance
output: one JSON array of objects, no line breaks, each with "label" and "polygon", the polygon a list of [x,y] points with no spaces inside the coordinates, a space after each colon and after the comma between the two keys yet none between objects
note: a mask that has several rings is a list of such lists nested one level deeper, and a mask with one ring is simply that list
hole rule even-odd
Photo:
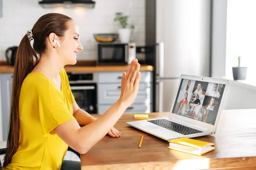
[{"label": "thick yellow notebook lying in front of the laptop", "polygon": [[191,138],[177,138],[169,141],[168,148],[201,156],[215,150],[215,144]]}]

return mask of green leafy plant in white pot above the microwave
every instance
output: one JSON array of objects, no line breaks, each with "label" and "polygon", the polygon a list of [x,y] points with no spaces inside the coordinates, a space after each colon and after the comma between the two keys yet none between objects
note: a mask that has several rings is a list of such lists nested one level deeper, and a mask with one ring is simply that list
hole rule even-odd
[{"label": "green leafy plant in white pot above the microwave", "polygon": [[116,17],[114,21],[119,21],[122,28],[118,30],[119,39],[121,43],[128,43],[131,40],[131,29],[134,29],[133,25],[130,25],[130,28],[128,28],[128,16],[123,16],[121,12],[116,12]]}]

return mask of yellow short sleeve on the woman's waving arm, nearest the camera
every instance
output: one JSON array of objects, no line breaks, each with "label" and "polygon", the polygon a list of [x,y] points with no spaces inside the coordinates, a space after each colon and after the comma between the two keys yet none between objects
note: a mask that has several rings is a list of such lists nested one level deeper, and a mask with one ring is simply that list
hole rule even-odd
[{"label": "yellow short sleeve on the woman's waving arm, nearest the camera", "polygon": [[64,104],[63,97],[54,84],[46,82],[38,89],[38,108],[41,128],[44,136],[60,124],[76,120]]}]

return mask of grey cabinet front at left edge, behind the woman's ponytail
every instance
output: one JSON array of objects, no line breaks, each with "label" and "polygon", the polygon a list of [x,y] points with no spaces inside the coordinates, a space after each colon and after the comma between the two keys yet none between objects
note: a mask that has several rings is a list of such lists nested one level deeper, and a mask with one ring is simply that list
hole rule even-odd
[{"label": "grey cabinet front at left edge, behind the woman's ponytail", "polygon": [[2,104],[2,129],[3,129],[3,140],[7,140],[10,106],[11,106],[11,95],[12,95],[12,73],[1,73],[1,104]]}]

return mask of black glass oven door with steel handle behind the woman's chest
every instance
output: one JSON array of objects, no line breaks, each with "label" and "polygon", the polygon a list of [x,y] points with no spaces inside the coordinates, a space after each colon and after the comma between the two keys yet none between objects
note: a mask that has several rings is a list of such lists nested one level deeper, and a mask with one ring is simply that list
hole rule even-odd
[{"label": "black glass oven door with steel handle behind the woman's chest", "polygon": [[81,109],[88,113],[97,113],[96,83],[70,83],[70,88]]}]

